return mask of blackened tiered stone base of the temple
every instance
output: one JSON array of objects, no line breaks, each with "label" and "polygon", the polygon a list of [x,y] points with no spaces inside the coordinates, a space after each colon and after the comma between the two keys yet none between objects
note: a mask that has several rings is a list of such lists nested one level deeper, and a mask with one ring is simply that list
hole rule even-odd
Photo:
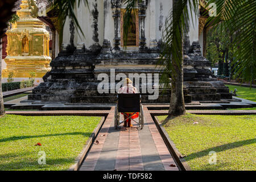
[{"label": "blackened tiered stone base of the temple", "polygon": [[[193,47],[196,47],[195,45]],[[210,63],[201,56],[197,49],[191,49],[188,55],[184,55],[184,100],[191,101],[220,101],[222,98],[232,98],[229,89],[221,82],[213,78],[210,73]],[[42,102],[59,102],[91,104],[114,104],[117,102],[117,93],[98,93],[98,85],[102,79],[98,76],[104,73],[111,77],[114,69],[114,76],[119,73],[140,74],[161,74],[156,68],[159,61],[159,53],[155,51],[110,51],[99,47],[97,51],[85,51],[74,53],[60,53],[51,62],[52,70],[44,76],[44,82],[37,86],[28,100],[41,100]],[[159,76],[160,77],[160,76]],[[119,80],[115,81],[115,85]],[[156,100],[149,100],[148,96],[154,94],[142,93],[144,82],[140,81],[135,85],[141,92],[143,103],[170,103],[171,90],[159,88],[159,97]],[[155,86],[154,78],[150,88]]]}]

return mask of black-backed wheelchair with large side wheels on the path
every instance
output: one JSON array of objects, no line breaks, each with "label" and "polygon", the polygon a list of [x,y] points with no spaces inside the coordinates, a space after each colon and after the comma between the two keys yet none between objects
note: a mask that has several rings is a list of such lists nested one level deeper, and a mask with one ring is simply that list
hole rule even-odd
[{"label": "black-backed wheelchair with large side wheels on the path", "polygon": [[[136,113],[139,113],[139,122],[135,121],[141,129],[143,129],[144,126],[144,117],[143,117],[143,105],[141,104],[141,95],[139,93],[120,93],[118,94],[118,104],[115,107],[115,129],[118,129],[119,125],[121,123],[125,122],[119,121],[120,113],[123,113],[123,115],[126,115],[125,113],[131,113],[129,118],[133,117]],[[128,119],[129,119],[128,118]]]}]

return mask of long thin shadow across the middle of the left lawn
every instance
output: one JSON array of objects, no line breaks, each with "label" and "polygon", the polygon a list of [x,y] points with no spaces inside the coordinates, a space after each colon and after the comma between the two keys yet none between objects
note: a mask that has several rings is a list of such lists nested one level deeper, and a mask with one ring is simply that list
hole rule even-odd
[{"label": "long thin shadow across the middle of the left lawn", "polygon": [[9,137],[9,138],[2,138],[0,142],[7,142],[13,140],[20,140],[20,139],[27,139],[27,138],[39,138],[39,137],[55,137],[55,136],[62,136],[62,135],[84,135],[85,137],[90,137],[92,133],[83,133],[83,132],[73,132],[73,133],[57,133],[57,134],[46,134],[46,135],[23,135],[19,137]]}]

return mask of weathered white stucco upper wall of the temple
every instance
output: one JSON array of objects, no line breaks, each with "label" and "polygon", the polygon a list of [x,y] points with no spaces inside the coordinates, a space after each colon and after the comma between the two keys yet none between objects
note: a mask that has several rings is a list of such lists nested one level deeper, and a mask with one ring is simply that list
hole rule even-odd
[{"label": "weathered white stucco upper wall of the temple", "polygon": [[[78,0],[77,0],[78,2]],[[91,0],[88,1],[89,9],[84,5],[84,2],[80,2],[80,6],[76,7],[75,11],[78,15],[78,20],[82,31],[84,32],[85,38],[79,36],[78,32],[75,30],[75,46],[79,46],[84,43],[86,48],[89,48],[96,42],[93,40],[94,27],[93,27],[93,11],[94,6],[97,4],[98,10],[98,43],[102,46],[104,39],[110,41],[112,48],[114,47],[114,18],[113,10],[111,8],[111,2],[109,0]],[[125,5],[122,5],[122,9]],[[189,8],[189,7],[188,7]],[[172,0],[148,0],[148,6],[146,10],[145,18],[145,36],[146,36],[146,46],[150,47],[151,40],[156,39],[158,42],[162,39],[162,34],[164,30],[165,20],[172,9]],[[197,16],[191,17],[189,13],[190,20],[189,24],[189,40],[190,43],[199,40],[199,20]],[[64,36],[63,43],[69,44],[69,19],[67,19],[64,26]],[[200,39],[201,40],[201,39]],[[200,45],[202,46],[203,44]]]}]

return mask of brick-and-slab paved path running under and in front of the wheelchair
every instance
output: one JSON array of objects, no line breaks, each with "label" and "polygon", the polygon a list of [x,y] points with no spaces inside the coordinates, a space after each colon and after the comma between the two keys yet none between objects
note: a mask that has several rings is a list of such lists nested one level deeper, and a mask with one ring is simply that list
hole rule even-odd
[{"label": "brick-and-slab paved path running under and in front of the wheelchair", "polygon": [[[178,171],[147,108],[144,108],[144,128],[114,128],[114,107],[110,110],[96,141],[80,167],[92,170],[172,170]],[[170,167],[174,164],[175,167]]]}]

